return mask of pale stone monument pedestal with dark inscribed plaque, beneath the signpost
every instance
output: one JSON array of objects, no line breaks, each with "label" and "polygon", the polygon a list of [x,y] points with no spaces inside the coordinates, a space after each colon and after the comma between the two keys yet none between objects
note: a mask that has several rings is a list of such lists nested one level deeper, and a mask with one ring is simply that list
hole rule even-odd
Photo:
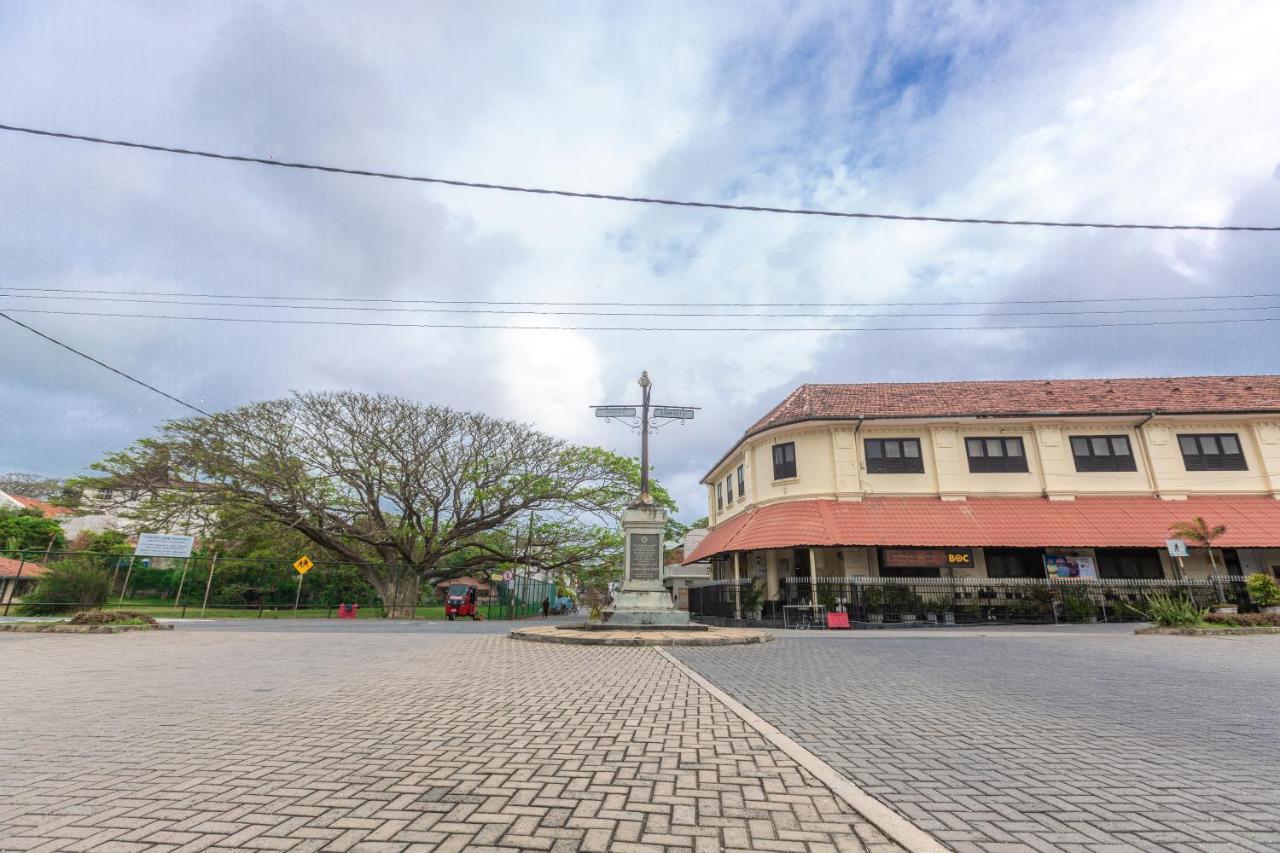
[{"label": "pale stone monument pedestal with dark inscribed plaque, beneath the signpost", "polygon": [[654,503],[632,503],[622,512],[626,570],[622,588],[603,613],[608,625],[689,624],[689,613],[676,608],[662,585],[666,528],[667,514]]}]

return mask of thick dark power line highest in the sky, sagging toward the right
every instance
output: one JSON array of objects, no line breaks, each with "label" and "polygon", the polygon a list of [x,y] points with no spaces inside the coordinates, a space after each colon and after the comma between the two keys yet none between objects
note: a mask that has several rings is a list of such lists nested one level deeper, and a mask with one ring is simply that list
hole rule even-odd
[{"label": "thick dark power line highest in the sky, sagging toward the right", "polygon": [[548,187],[526,187],[518,184],[489,183],[480,181],[460,181],[456,178],[433,178],[426,175],[403,174],[398,172],[380,172],[372,169],[353,169],[348,167],[324,165],[317,163],[302,163],[292,160],[274,160],[269,158],[255,158],[243,154],[224,154],[218,151],[204,151],[200,149],[179,149],[152,142],[136,142],[131,140],[108,140],[97,136],[82,133],[61,133],[58,131],[45,131],[32,127],[19,127],[15,124],[0,124],[0,131],[10,133],[26,133],[29,136],[49,137],[55,140],[72,140],[76,142],[91,142],[93,145],[110,145],[123,149],[141,149],[145,151],[159,151],[164,154],[179,154],[193,158],[206,158],[210,160],[230,160],[236,163],[256,163],[259,165],[278,167],[283,169],[305,169],[311,172],[326,172],[333,174],[357,175],[362,178],[384,178],[388,181],[411,181],[415,183],[431,183],[447,187],[462,187],[467,190],[490,190],[498,192],[520,192],[538,196],[561,196],[564,199],[588,199],[593,201],[620,201],[641,205],[664,205],[671,207],[700,207],[707,210],[736,210],[742,213],[769,213],[787,214],[797,216],[829,216],[837,219],[883,219],[891,222],[937,222],[961,225],[1032,225],[1041,228],[1111,228],[1129,231],[1249,231],[1249,232],[1276,232],[1280,225],[1157,225],[1146,223],[1112,223],[1112,222],[1055,222],[1039,219],[983,219],[978,216],[920,216],[908,214],[886,214],[847,210],[822,210],[814,207],[773,207],[763,205],[735,205],[714,201],[690,201],[680,199],[658,199],[648,196],[623,196],[605,192],[577,192],[572,190],[556,190]]}]

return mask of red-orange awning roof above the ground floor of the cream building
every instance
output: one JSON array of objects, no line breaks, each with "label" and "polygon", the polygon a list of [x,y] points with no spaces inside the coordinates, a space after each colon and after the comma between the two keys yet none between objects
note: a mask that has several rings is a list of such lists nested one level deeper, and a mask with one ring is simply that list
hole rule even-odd
[{"label": "red-orange awning roof above the ground floor of the cream building", "polygon": [[732,551],[840,546],[1161,548],[1171,525],[1196,516],[1226,525],[1216,547],[1280,547],[1280,501],[1271,497],[814,500],[736,515],[712,530],[685,562]]}]

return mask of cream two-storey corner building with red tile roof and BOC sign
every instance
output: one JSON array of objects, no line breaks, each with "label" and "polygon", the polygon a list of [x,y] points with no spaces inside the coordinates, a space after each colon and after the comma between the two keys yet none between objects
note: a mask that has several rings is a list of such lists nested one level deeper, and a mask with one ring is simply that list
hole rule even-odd
[{"label": "cream two-storey corner building with red tile roof and BOC sign", "polygon": [[[1280,377],[801,386],[703,479],[716,576],[1280,576]],[[1170,557],[1170,528],[1226,532]]]}]

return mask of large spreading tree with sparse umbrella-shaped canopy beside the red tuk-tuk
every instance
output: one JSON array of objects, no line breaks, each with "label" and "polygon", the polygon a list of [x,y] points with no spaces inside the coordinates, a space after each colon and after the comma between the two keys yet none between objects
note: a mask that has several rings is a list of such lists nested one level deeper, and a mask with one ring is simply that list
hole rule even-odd
[{"label": "large spreading tree with sparse umbrella-shaped canopy beside the red tuk-tuk", "polygon": [[239,519],[358,562],[401,616],[424,581],[616,558],[611,533],[640,479],[635,460],[526,424],[356,392],[170,421],[95,467],[95,485],[146,497],[138,515],[155,529]]}]

